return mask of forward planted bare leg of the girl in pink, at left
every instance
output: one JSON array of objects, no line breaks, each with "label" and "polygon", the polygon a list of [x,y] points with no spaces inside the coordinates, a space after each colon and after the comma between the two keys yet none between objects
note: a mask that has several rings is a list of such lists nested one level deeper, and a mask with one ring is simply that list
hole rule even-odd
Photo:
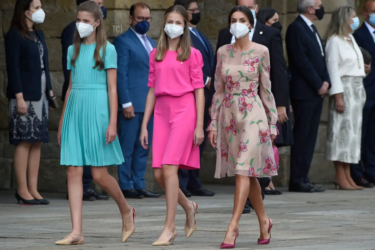
[{"label": "forward planted bare leg of the girl in pink, at left", "polygon": [[177,211],[178,201],[178,166],[162,165],[162,174],[165,183],[166,217],[162,234],[157,241],[169,241],[173,237],[174,219]]}]

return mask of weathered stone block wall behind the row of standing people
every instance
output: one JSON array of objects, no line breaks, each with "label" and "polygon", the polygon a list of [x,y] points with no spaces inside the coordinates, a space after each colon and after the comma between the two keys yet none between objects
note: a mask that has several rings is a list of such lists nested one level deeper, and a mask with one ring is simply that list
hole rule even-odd
[{"label": "weathered stone block wall behind the row of standing people", "polygon": [[[148,35],[157,38],[161,20],[165,9],[173,4],[174,0],[143,0],[151,9],[153,21]],[[324,27],[330,19],[330,12],[340,5],[359,6],[365,0],[323,0],[328,12],[322,21],[317,22],[318,31],[323,34]],[[61,96],[63,73],[61,63],[60,34],[63,28],[75,19],[75,0],[42,0],[46,12],[45,22],[41,28],[45,33],[49,51],[50,75],[54,93]],[[110,40],[123,33],[129,27],[129,8],[137,0],[104,0],[108,9],[107,19],[104,21],[106,32]],[[3,36],[9,28],[13,14],[15,0],[0,1],[0,189],[14,189],[16,187],[14,171],[12,169],[13,146],[9,145],[8,136],[8,105],[5,98],[7,76],[5,68],[5,48]],[[202,21],[198,24],[201,30],[210,39],[215,49],[218,31],[227,25],[227,15],[234,0],[198,0],[202,12]],[[261,7],[273,7],[281,14],[284,27],[296,18],[297,0],[260,0]],[[283,32],[285,32],[284,28]],[[283,36],[285,33],[283,33]],[[61,105],[62,106],[62,105]],[[61,109],[51,111],[49,114],[50,143],[42,146],[42,155],[39,171],[39,189],[49,191],[66,190],[65,167],[59,165],[60,148],[56,142],[56,131]],[[333,180],[333,166],[324,159],[325,137],[327,123],[327,100],[321,117],[321,125],[315,155],[311,168],[311,179],[317,183],[327,183]],[[279,177],[274,178],[278,185],[285,185],[289,176],[289,148],[282,148]],[[215,152],[207,147],[202,159],[201,179],[205,183],[233,183],[233,178],[214,179]],[[151,161],[151,157],[150,157]],[[115,167],[110,168],[113,175],[117,175]],[[157,189],[150,169],[146,174],[147,185],[150,189]]]}]

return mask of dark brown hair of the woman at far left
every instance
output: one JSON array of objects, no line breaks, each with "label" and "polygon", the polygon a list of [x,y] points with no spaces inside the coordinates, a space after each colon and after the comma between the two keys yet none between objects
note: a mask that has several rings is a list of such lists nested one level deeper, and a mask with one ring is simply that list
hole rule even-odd
[{"label": "dark brown hair of the woman at far left", "polygon": [[[27,35],[28,27],[26,23],[26,15],[25,11],[30,9],[30,5],[34,0],[17,0],[16,4],[14,6],[14,12],[13,12],[13,17],[12,21],[10,21],[10,27],[17,27],[18,30],[20,30],[21,35],[23,37],[27,37],[28,39],[33,39],[30,36]],[[37,30],[38,25],[34,24],[33,25],[33,30]]]}]

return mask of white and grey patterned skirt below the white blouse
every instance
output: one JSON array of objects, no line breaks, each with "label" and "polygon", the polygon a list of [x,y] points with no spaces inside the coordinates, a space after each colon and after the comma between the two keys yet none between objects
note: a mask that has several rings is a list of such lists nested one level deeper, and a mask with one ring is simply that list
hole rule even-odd
[{"label": "white and grey patterned skirt below the white blouse", "polygon": [[336,111],[335,97],[329,100],[327,160],[358,163],[361,158],[362,109],[366,101],[363,77],[342,76],[344,112]]}]

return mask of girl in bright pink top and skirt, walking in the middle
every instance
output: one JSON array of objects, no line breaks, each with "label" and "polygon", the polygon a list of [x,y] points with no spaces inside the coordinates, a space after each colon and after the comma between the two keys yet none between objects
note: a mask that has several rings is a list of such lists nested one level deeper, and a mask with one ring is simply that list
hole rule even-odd
[{"label": "girl in bright pink top and skirt, walking in the middle", "polygon": [[169,7],[164,15],[157,48],[150,53],[150,73],[139,140],[148,148],[147,123],[154,112],[152,167],[165,189],[166,219],[153,246],[173,244],[177,202],[186,212],[186,238],[196,229],[198,205],[179,189],[177,170],[199,169],[203,142],[204,82],[201,53],[191,47],[188,15],[184,7]]}]

